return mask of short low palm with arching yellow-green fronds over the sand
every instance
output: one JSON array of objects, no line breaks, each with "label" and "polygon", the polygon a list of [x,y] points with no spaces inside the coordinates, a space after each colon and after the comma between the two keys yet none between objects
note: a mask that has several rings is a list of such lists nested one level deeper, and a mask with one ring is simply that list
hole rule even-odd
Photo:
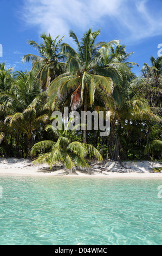
[{"label": "short low palm with arching yellow-green fronds over the sand", "polygon": [[92,145],[73,141],[75,129],[69,130],[69,123],[64,131],[55,130],[53,126],[48,125],[46,130],[51,129],[57,141],[42,141],[36,143],[31,149],[31,156],[35,156],[37,152],[47,151],[47,153],[40,154],[35,163],[47,163],[50,169],[54,164],[62,162],[69,174],[75,173],[79,167],[90,168],[86,157],[88,155],[96,157],[99,161],[102,156],[97,149]]}]

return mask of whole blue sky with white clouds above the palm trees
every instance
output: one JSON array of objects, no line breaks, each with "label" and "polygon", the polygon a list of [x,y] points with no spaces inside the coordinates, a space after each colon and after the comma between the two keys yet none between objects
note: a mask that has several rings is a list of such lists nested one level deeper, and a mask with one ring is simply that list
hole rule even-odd
[{"label": "whole blue sky with white clouds above the palm trees", "polygon": [[36,53],[27,40],[40,43],[42,32],[54,38],[65,35],[64,41],[75,47],[70,29],[81,38],[89,27],[100,28],[99,41],[120,39],[127,52],[134,52],[129,60],[139,64],[134,68],[137,75],[150,56],[158,57],[162,44],[162,0],[0,0],[0,4],[0,62],[14,71],[31,68],[21,59]]}]

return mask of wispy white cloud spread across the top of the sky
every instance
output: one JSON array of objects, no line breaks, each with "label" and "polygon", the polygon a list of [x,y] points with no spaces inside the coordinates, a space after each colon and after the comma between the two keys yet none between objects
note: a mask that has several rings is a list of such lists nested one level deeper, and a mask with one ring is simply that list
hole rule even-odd
[{"label": "wispy white cloud spread across the top of the sky", "polygon": [[[154,2],[154,1],[153,1]],[[157,2],[157,0],[155,0]],[[162,34],[162,17],[152,12],[151,0],[25,0],[23,18],[38,33],[69,36],[69,30],[109,26],[129,42]],[[156,7],[158,9],[158,6]],[[119,32],[119,31],[118,31]]]}]

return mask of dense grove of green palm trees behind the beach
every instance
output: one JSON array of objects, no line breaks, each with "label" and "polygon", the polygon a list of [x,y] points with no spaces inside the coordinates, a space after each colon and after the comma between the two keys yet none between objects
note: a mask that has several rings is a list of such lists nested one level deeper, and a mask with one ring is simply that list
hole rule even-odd
[{"label": "dense grove of green palm trees behind the beach", "polygon": [[[133,53],[118,40],[96,42],[99,35],[89,29],[79,42],[71,31],[75,50],[63,38],[42,34],[41,45],[29,41],[38,54],[23,58],[32,63],[29,72],[13,72],[0,64],[0,156],[41,154],[38,162],[52,166],[63,161],[70,169],[88,166],[87,157],[101,155],[118,161],[161,159],[162,57],[151,57],[137,77],[133,66],[138,64],[128,62]],[[47,129],[53,111],[63,112],[64,106],[70,111],[108,111],[109,136],[100,137],[94,130],[75,130],[72,136]]]}]

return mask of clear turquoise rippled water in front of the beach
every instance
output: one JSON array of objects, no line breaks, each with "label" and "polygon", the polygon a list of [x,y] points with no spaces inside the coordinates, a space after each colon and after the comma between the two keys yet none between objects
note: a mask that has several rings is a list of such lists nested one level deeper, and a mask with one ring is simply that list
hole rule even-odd
[{"label": "clear turquoise rippled water in front of the beach", "polygon": [[0,176],[1,245],[160,245],[162,180]]}]

